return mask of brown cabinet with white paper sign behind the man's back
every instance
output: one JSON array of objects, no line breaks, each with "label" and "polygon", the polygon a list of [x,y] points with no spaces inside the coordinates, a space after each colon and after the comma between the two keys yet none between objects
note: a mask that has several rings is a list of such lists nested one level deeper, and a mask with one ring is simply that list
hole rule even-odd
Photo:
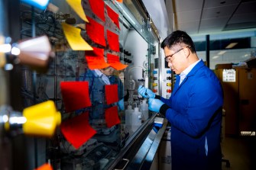
[{"label": "brown cabinet with white paper sign behind the man's back", "polygon": [[[235,70],[235,74],[224,78],[226,70]],[[224,91],[225,134],[238,136],[241,131],[255,131],[256,69],[215,69],[215,74]]]}]

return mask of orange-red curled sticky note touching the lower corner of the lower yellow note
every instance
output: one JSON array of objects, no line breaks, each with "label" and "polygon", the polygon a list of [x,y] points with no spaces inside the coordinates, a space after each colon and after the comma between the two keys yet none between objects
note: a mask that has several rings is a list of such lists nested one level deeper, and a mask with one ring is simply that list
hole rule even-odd
[{"label": "orange-red curled sticky note touching the lower corner of the lower yellow note", "polygon": [[92,47],[93,51],[86,51],[86,61],[89,69],[104,69],[110,66],[105,63],[104,49]]}]

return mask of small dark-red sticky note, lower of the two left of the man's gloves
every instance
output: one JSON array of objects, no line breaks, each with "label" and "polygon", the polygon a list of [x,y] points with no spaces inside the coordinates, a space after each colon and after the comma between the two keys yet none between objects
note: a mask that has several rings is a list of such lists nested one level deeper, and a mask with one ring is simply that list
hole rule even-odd
[{"label": "small dark-red sticky note, lower of the two left of the man's gloves", "polygon": [[118,107],[113,106],[105,110],[105,123],[107,127],[113,127],[115,124],[121,123],[118,117]]}]

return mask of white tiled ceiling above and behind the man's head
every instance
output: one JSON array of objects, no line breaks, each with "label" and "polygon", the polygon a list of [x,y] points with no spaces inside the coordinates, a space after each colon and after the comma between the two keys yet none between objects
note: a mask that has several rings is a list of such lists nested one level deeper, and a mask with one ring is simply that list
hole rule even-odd
[{"label": "white tiled ceiling above and behind the man's head", "polygon": [[166,0],[166,4],[173,30],[188,34],[256,30],[256,0]]}]

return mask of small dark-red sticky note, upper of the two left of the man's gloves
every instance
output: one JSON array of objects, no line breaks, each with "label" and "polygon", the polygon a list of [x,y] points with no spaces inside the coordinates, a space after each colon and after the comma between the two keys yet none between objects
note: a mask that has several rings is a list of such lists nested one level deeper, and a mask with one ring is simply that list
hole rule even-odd
[{"label": "small dark-red sticky note, upper of the two left of the man's gloves", "polygon": [[118,102],[118,85],[105,85],[105,99],[107,104]]}]

